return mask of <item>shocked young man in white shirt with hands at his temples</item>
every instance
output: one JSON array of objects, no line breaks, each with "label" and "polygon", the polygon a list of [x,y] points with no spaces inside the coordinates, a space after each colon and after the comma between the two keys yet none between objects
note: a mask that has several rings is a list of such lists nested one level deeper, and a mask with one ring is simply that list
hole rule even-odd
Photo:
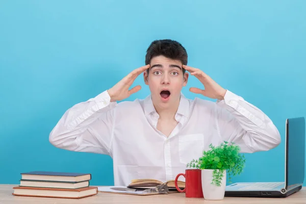
[{"label": "shocked young man in white shirt with hands at his temples", "polygon": [[[200,69],[187,66],[187,52],[179,42],[152,42],[145,64],[111,89],[67,110],[49,141],[71,151],[110,155],[115,185],[122,186],[133,179],[173,180],[211,143],[235,142],[241,152],[255,152],[281,142],[276,127],[261,110]],[[190,91],[215,98],[216,103],[184,97],[186,70],[205,87]],[[117,103],[140,90],[139,85],[132,89],[131,85],[141,73],[151,94]]]}]

